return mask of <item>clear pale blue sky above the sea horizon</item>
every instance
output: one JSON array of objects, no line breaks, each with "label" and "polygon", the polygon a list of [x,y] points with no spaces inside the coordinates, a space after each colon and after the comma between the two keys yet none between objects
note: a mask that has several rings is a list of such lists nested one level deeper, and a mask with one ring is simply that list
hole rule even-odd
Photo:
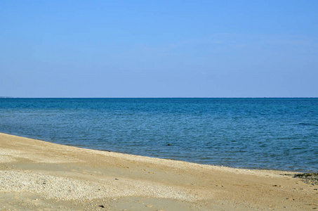
[{"label": "clear pale blue sky above the sea horizon", "polygon": [[318,1],[0,1],[0,96],[318,97]]}]

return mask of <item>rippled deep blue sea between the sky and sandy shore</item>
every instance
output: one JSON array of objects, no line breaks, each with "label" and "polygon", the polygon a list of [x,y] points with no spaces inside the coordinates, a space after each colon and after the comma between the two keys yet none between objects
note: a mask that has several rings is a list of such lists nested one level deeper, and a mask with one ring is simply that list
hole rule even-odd
[{"label": "rippled deep blue sea between the sky and sandy shore", "polygon": [[0,132],[210,165],[318,171],[318,98],[0,98]]}]

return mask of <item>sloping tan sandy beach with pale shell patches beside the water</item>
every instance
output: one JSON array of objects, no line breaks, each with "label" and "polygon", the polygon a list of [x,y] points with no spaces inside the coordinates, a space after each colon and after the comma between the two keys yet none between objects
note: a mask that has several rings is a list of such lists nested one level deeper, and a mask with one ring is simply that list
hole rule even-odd
[{"label": "sloping tan sandy beach with pale shell patches beside the water", "polygon": [[314,210],[295,172],[147,158],[0,134],[0,210]]}]

